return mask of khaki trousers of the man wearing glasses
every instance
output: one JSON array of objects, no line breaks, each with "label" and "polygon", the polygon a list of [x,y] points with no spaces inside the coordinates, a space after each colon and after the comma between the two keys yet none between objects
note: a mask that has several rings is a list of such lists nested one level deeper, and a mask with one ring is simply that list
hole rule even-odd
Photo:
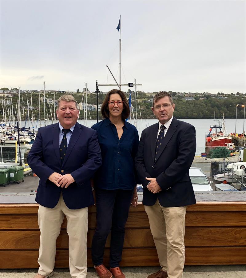
[{"label": "khaki trousers of the man wearing glasses", "polygon": [[145,206],[162,270],[169,278],[182,278],[185,264],[185,207]]}]

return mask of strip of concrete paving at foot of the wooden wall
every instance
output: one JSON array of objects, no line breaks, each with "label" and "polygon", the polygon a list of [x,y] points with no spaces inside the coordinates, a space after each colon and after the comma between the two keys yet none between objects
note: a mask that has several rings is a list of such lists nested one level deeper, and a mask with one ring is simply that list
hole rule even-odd
[{"label": "strip of concrete paving at foot of the wooden wall", "polygon": [[[122,267],[126,278],[146,278],[159,267]],[[1,278],[33,278],[37,269],[0,271]],[[69,269],[55,269],[54,278],[69,278]],[[98,278],[93,268],[88,268],[86,278]],[[246,278],[246,265],[185,266],[183,278]]]}]

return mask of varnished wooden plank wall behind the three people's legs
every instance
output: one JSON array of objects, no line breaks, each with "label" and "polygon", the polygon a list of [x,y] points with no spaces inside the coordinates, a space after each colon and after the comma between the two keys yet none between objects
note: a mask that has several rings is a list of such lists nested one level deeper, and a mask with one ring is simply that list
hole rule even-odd
[{"label": "varnished wooden plank wall behind the three people's legs", "polygon": [[[0,268],[38,268],[38,204],[0,205]],[[96,226],[96,207],[89,207],[88,266]],[[105,265],[109,261],[109,239]],[[188,206],[185,264],[246,264],[246,202],[198,202]],[[159,265],[144,206],[131,207],[126,223],[121,266]],[[55,267],[69,267],[66,220],[57,239]]]}]

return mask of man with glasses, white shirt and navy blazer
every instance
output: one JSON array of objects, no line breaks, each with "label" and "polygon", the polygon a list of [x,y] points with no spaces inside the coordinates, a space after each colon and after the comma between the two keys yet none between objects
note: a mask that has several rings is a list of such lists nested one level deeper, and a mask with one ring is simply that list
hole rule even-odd
[{"label": "man with glasses, white shirt and navy blazer", "polygon": [[174,107],[169,93],[155,95],[152,110],[159,122],[143,130],[135,158],[162,267],[148,278],[182,278],[186,206],[196,203],[189,177],[196,132],[192,125],[173,117]]}]

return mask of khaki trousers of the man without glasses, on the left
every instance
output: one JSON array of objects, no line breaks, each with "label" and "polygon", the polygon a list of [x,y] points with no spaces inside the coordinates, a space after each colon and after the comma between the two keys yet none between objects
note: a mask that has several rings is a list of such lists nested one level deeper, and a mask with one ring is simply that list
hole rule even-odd
[{"label": "khaki trousers of the man without glasses, on the left", "polygon": [[40,267],[38,273],[46,276],[54,269],[56,239],[60,234],[64,215],[67,218],[67,233],[69,235],[70,274],[72,278],[85,278],[87,274],[88,207],[68,209],[62,194],[54,209],[39,205],[40,247],[38,263]]}]

